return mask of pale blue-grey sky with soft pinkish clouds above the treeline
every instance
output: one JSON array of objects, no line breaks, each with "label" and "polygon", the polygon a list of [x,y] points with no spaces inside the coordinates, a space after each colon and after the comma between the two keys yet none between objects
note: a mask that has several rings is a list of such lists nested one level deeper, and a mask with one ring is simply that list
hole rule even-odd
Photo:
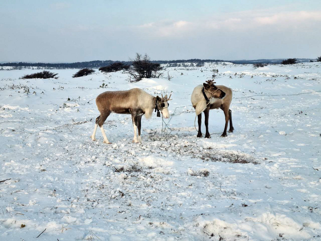
[{"label": "pale blue-grey sky with soft pinkish clouds above the treeline", "polygon": [[320,0],[0,0],[0,61],[317,58]]}]

